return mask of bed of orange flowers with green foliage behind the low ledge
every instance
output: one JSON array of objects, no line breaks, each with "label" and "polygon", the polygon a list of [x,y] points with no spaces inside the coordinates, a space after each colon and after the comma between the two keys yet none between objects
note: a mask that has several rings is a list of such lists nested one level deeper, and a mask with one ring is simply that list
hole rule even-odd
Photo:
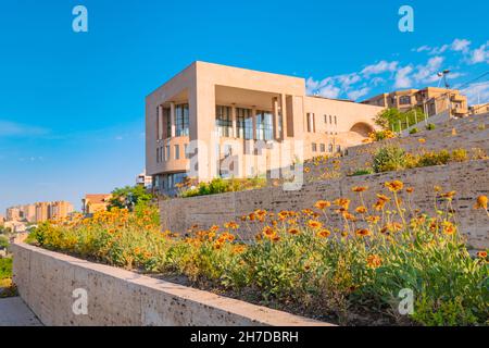
[{"label": "bed of orange flowers with green foliage behind the low ledge", "polygon": [[[354,187],[359,204],[322,200],[300,212],[258,210],[239,222],[185,235],[161,233],[151,208],[41,225],[40,246],[101,262],[178,276],[195,286],[340,324],[488,324],[487,250],[472,258],[451,214],[455,192],[436,216],[412,207],[412,188],[386,183],[375,202]],[[478,198],[487,219],[487,198]],[[344,228],[327,227],[339,214]],[[256,243],[243,245],[244,224]],[[413,291],[414,312],[398,311],[399,293]]]}]

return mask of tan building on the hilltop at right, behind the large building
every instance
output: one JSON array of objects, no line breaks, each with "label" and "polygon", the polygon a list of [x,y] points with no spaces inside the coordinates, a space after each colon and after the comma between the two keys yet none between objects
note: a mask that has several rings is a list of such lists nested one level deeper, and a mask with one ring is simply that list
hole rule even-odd
[{"label": "tan building on the hilltop at right, behind the large building", "polygon": [[468,113],[467,97],[456,89],[426,87],[424,89],[396,90],[381,94],[362,101],[364,104],[384,108],[396,108],[401,111],[413,108],[422,109],[428,116],[451,111],[455,117],[465,116]]}]

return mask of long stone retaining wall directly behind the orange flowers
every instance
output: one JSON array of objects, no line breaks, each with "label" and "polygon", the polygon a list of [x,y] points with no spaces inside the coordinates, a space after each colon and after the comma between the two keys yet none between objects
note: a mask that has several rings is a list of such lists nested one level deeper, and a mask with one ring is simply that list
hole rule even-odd
[{"label": "long stone retaining wall directly behind the orange flowers", "polygon": [[[478,195],[489,195],[489,160],[453,163],[418,167],[401,172],[379,173],[363,176],[350,176],[338,179],[306,183],[302,189],[284,191],[280,187],[228,192],[213,196],[178,198],[160,202],[161,222],[164,229],[185,233],[197,224],[209,228],[213,224],[223,224],[237,220],[241,215],[256,209],[279,212],[280,210],[301,210],[313,208],[319,199],[334,200],[338,197],[352,199],[352,207],[360,204],[353,186],[368,186],[364,198],[367,204],[373,203],[375,194],[385,191],[387,181],[400,179],[405,186],[415,188],[411,200],[415,208],[434,213],[434,186],[443,190],[456,190],[453,208],[460,223],[460,229],[467,236],[469,246],[474,248],[489,247],[489,217],[473,206]],[[405,195],[405,194],[404,194]],[[406,197],[403,197],[406,199]],[[439,202],[441,203],[441,202]],[[331,220],[330,227],[341,228],[339,220]],[[251,240],[255,232],[241,228],[239,236]]]}]

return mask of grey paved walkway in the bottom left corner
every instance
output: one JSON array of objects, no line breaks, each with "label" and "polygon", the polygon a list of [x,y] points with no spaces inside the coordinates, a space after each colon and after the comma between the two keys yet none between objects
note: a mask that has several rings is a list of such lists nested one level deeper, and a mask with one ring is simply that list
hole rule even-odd
[{"label": "grey paved walkway in the bottom left corner", "polygon": [[0,326],[41,326],[20,297],[0,299]]}]

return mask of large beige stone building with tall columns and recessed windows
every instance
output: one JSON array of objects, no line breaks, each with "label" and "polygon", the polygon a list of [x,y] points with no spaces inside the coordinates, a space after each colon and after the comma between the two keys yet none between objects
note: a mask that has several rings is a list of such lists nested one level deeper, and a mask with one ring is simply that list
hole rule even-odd
[{"label": "large beige stone building with tall columns and recessed windows", "polygon": [[146,99],[146,171],[163,192],[185,176],[260,175],[360,144],[383,109],[309,97],[304,78],[195,62]]}]

